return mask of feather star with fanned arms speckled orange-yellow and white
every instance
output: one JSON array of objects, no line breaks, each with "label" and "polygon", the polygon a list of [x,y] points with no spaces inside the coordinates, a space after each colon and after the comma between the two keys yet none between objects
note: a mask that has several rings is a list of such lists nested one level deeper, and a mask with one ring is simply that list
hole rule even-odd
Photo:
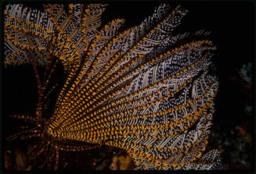
[{"label": "feather star with fanned arms speckled orange-yellow and white", "polygon": [[[38,80],[35,115],[14,116],[35,128],[14,137],[40,139],[34,158],[49,156],[41,166],[57,166],[59,151],[107,145],[127,151],[138,169],[219,167],[219,151],[205,152],[218,91],[209,68],[215,46],[204,30],[174,32],[186,9],[161,4],[124,30],[121,19],[101,27],[103,4],[44,8],[13,4],[4,10],[5,66],[31,63]],[[53,58],[67,80],[45,117],[52,72],[42,83],[36,63],[49,69]]]}]

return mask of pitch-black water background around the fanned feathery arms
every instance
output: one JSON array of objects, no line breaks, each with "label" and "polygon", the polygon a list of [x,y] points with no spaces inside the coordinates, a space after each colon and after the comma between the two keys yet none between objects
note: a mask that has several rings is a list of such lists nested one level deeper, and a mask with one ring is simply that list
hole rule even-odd
[{"label": "pitch-black water background around the fanned feathery arms", "polygon": [[[230,130],[246,122],[246,131],[253,138],[254,116],[244,112],[247,95],[243,86],[233,81],[239,78],[238,69],[243,64],[253,62],[254,67],[254,4],[251,2],[186,2],[180,3],[189,10],[183,18],[178,31],[194,31],[205,29],[211,31],[211,39],[217,47],[213,62],[219,78],[219,92],[215,100],[214,130],[219,134],[219,140],[233,139],[229,137]],[[35,6],[38,4],[31,4]],[[175,7],[178,3],[171,4]],[[157,3],[153,2],[113,2],[103,14],[103,24],[118,18],[124,18],[124,27],[138,25],[153,13]],[[60,68],[61,69],[61,68]],[[58,78],[63,78],[59,73]],[[61,80],[60,80],[61,81]],[[251,84],[252,85],[252,84]],[[245,88],[247,89],[247,88]],[[251,86],[251,89],[254,87]],[[252,94],[250,88],[248,92]],[[251,100],[253,101],[253,100]],[[2,65],[2,133],[9,134],[9,127],[15,124],[13,119],[7,119],[10,114],[33,115],[37,104],[37,84],[34,71],[29,65],[4,68]],[[253,103],[251,103],[253,105]],[[227,137],[224,137],[225,133]],[[253,142],[251,142],[252,145]],[[249,154],[251,165],[233,164],[230,153],[233,148],[225,149],[224,162],[228,169],[252,169],[252,147],[243,153]],[[230,151],[230,153],[229,153]],[[239,158],[239,157],[238,157]]]}]

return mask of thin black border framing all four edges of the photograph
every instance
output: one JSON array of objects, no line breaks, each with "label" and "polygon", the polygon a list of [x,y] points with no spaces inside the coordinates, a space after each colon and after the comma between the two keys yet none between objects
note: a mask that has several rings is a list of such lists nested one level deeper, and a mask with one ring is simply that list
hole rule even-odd
[{"label": "thin black border framing all four edges of the photograph", "polygon": [[[5,6],[5,3],[6,2],[8,2],[8,3],[17,3],[17,2],[32,2],[32,3],[34,3],[34,2],[44,2],[44,3],[47,3],[47,2],[50,2],[50,3],[52,3],[52,2],[54,2],[54,3],[63,3],[63,2],[70,2],[70,1],[68,1],[68,0],[63,0],[63,1],[32,1],[32,0],[23,0],[23,1],[2,1],[2,2],[0,2],[0,6],[1,6],[1,11],[0,11],[0,13],[1,13],[1,19],[3,19],[3,8],[4,8],[4,6]],[[85,1],[76,1],[76,2],[85,2]],[[103,2],[103,1],[90,1],[90,2]],[[104,1],[104,2],[121,2],[120,0],[106,0],[106,1]],[[130,1],[128,1],[128,0],[125,0],[125,1],[122,1],[122,2],[138,2],[138,1],[135,1],[135,0],[130,0]],[[156,2],[156,1],[153,1],[153,0],[139,0],[139,2]],[[181,0],[176,0],[176,1],[157,1],[157,2],[171,2],[171,3],[186,3],[186,2],[189,2],[189,1],[181,1]],[[206,1],[204,1],[204,0],[197,0],[197,1],[193,1],[193,2],[206,2]],[[220,3],[220,4],[222,4],[222,3],[225,3],[225,2],[229,2],[229,3],[233,3],[233,2],[248,2],[248,3],[251,3],[251,5],[253,5],[253,8],[254,8],[254,20],[256,19],[256,14],[255,14],[255,7],[256,7],[256,3],[254,2],[254,0],[250,0],[250,1],[242,1],[242,0],[240,0],[240,1],[234,1],[234,0],[225,0],[225,2],[224,1],[220,1],[220,0],[218,0],[218,1],[207,1],[207,2],[216,2],[216,3]],[[2,26],[2,30],[3,30],[3,20],[1,20],[1,26]],[[253,72],[254,72],[254,79],[255,79],[255,76],[256,76],[256,73],[255,73],[255,53],[256,53],[256,49],[255,49],[255,29],[256,29],[256,27],[255,27],[255,22],[254,22],[254,26],[253,26],[253,28],[254,28],[254,63],[253,63],[253,65],[254,65],[254,69],[253,69]],[[0,41],[1,41],[1,43],[3,43],[2,42],[2,39],[3,39],[3,32],[1,33],[1,38],[0,38]],[[3,45],[3,44],[1,44],[1,45]],[[3,58],[3,46],[2,46],[2,51],[0,51],[0,55],[1,55],[1,58]],[[3,66],[3,59],[0,59],[0,64],[1,64],[1,68],[0,68],[0,73],[1,73],[1,85],[0,85],[0,91],[1,91],[1,93],[0,93],[0,103],[2,104],[4,101],[2,101],[2,93],[4,92],[4,91],[2,91],[2,69],[4,68],[4,66]],[[256,80],[254,80],[254,82],[253,82],[253,89],[254,89],[254,105],[255,105],[255,103],[256,103],[256,98],[255,98],[255,87],[256,87]],[[2,112],[2,105],[0,105],[0,110],[1,110],[1,112]],[[256,111],[255,111],[255,109],[254,109],[254,116],[256,115]],[[255,126],[256,126],[256,124],[255,124],[255,118],[254,118],[254,133],[253,133],[253,137],[254,137],[254,140],[253,140],[253,144],[254,144],[254,147],[255,147],[255,140],[256,140],[256,137],[255,137],[255,132],[256,132],[256,128],[255,128]],[[3,124],[3,122],[2,122],[2,116],[1,116],[1,123]],[[1,141],[2,141],[2,132],[3,132],[3,130],[2,129],[0,129],[0,134],[1,134]],[[1,153],[2,153],[2,157],[3,157],[3,151],[2,151],[2,143],[0,144],[0,149],[1,149]],[[254,151],[253,151],[253,154],[254,154],[254,157],[255,157],[255,149],[254,149]],[[3,158],[0,158],[0,164],[1,164],[1,173],[3,172],[4,173],[4,171],[2,170],[3,169]],[[255,158],[253,158],[253,164],[255,164]],[[256,164],[255,164],[256,165]],[[91,172],[91,171],[90,171]],[[94,171],[94,172],[96,172],[96,171]],[[111,171],[100,171],[100,172],[111,172]],[[117,172],[117,173],[123,173],[123,172],[147,172],[147,171],[114,171],[114,172]],[[151,172],[151,171],[150,171]],[[163,172],[163,171],[157,171],[157,172]],[[168,172],[173,172],[173,171],[168,171]],[[181,173],[184,173],[184,172],[207,172],[207,171],[177,171],[177,172],[181,172]],[[227,170],[227,171],[209,171],[209,172],[213,172],[213,173],[219,173],[219,172],[225,172],[225,173],[255,173],[256,171],[255,171],[255,166],[254,166],[254,169],[252,169],[251,171],[233,171],[233,170]],[[12,173],[12,172],[5,172],[5,173]],[[25,173],[31,173],[31,172],[25,172]],[[41,173],[41,172],[35,172],[35,173]],[[44,172],[43,172],[44,173]],[[50,172],[50,173],[52,173],[52,172]],[[59,172],[59,173],[63,173],[63,172]],[[75,172],[75,173],[78,173],[78,172]],[[80,173],[80,172],[79,172]],[[83,173],[83,172],[81,172],[81,173]]]}]

